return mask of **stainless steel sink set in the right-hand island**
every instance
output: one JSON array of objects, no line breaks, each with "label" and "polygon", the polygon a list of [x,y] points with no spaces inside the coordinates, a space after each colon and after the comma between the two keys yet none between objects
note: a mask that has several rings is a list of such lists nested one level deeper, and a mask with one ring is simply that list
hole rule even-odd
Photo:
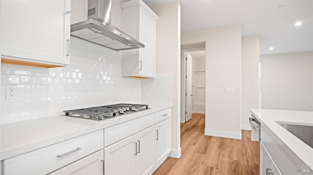
[{"label": "stainless steel sink set in the right-hand island", "polygon": [[277,122],[294,136],[313,148],[313,126]]}]

